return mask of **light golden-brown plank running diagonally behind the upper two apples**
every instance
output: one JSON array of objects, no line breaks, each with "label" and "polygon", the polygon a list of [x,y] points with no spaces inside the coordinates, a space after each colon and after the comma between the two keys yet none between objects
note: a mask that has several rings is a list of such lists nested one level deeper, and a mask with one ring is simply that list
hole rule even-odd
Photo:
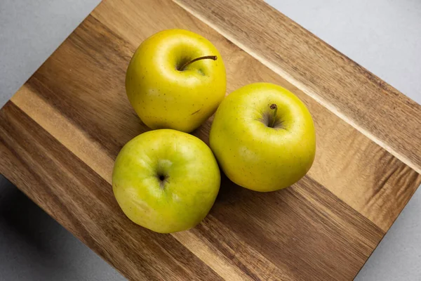
[{"label": "light golden-brown plank running diagonally behind the upper two apples", "polygon": [[[249,83],[267,81],[280,84],[297,94],[309,107],[316,122],[318,161],[309,174],[377,226],[383,230],[389,229],[417,188],[417,185],[411,184],[419,181],[412,169],[181,8],[163,1],[166,8],[158,10],[149,3],[143,9],[148,15],[154,15],[154,21],[138,25],[136,18],[140,15],[136,11],[135,1],[126,1],[125,5],[128,11],[119,10],[119,5],[114,1],[105,1],[92,15],[132,46],[138,46],[146,37],[168,28],[182,27],[203,34],[216,44],[225,60],[229,72],[227,93]],[[186,15],[182,22],[175,16],[179,13]],[[173,19],[171,14],[174,15]],[[51,84],[50,81],[46,83]],[[126,100],[125,96],[123,100]],[[203,130],[196,132],[196,135],[206,140],[209,128],[210,122],[204,124]],[[352,149],[344,149],[350,147]],[[377,171],[378,167],[384,170]],[[392,174],[385,176],[388,174],[383,171]],[[402,179],[409,181],[409,184],[398,183]]]}]

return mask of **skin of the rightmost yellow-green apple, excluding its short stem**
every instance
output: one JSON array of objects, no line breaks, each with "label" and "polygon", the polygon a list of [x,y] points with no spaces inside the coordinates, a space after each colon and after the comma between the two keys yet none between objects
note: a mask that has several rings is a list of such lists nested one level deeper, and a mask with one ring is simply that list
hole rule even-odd
[{"label": "skin of the rightmost yellow-green apple, excluding its short stem", "polygon": [[[274,128],[272,120],[276,104]],[[227,177],[261,192],[286,188],[314,161],[312,116],[290,91],[269,83],[244,86],[222,101],[210,129],[210,148]]]}]

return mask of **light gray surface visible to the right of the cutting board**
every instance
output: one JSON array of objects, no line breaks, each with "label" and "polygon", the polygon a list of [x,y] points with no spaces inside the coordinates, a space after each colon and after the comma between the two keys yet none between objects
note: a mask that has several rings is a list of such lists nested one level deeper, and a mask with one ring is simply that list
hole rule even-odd
[{"label": "light gray surface visible to the right of the cutting board", "polygon": [[[267,2],[421,103],[421,1]],[[356,280],[421,280],[420,204],[418,189]]]}]

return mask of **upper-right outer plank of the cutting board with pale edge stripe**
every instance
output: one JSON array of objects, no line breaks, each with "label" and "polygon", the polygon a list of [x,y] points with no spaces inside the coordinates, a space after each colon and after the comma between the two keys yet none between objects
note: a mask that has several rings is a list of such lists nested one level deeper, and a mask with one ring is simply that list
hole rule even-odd
[{"label": "upper-right outer plank of the cutting board with pale edge stripe", "polygon": [[174,0],[421,173],[421,105],[261,0]]}]

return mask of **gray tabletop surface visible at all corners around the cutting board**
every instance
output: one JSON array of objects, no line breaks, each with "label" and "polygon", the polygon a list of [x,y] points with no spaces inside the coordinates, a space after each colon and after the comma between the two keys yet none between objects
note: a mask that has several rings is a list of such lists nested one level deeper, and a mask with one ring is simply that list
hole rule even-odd
[{"label": "gray tabletop surface visible at all corners around the cutting board", "polygon": [[[421,103],[421,1],[267,2]],[[0,0],[0,106],[98,3]],[[420,192],[415,192],[357,280],[421,280]],[[124,280],[1,177],[0,276]]]}]

